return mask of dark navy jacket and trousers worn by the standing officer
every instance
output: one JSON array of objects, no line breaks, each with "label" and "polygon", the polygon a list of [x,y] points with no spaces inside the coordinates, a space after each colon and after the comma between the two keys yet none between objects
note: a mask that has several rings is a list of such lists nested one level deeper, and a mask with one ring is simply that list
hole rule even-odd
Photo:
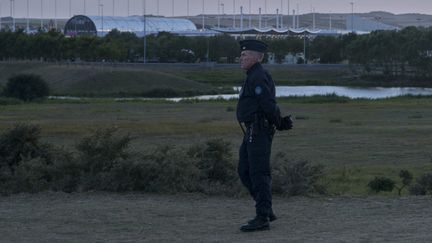
[{"label": "dark navy jacket and trousers worn by the standing officer", "polygon": [[260,63],[248,71],[237,104],[237,120],[246,126],[239,151],[238,173],[256,202],[258,217],[272,208],[270,153],[274,125],[280,119],[275,85]]}]

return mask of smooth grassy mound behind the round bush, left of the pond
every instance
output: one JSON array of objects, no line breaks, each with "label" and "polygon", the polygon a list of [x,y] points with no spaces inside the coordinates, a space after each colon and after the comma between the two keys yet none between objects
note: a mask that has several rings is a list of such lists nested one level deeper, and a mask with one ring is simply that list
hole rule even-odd
[{"label": "smooth grassy mound behind the round bush, left of the pond", "polygon": [[199,83],[151,68],[0,63],[0,85],[19,73],[41,75],[52,94],[79,96],[177,96],[215,93]]}]

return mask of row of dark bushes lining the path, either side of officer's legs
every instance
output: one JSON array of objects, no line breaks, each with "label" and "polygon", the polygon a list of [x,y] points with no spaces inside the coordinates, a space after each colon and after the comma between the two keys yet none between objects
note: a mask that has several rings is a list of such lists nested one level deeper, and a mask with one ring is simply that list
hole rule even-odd
[{"label": "row of dark bushes lining the path, either side of officer's legs", "polygon": [[[0,193],[98,190],[234,195],[244,190],[227,141],[157,146],[145,154],[130,152],[130,141],[117,129],[97,129],[71,153],[41,143],[37,126],[16,125],[0,136]],[[325,192],[318,183],[322,166],[285,162],[276,163],[276,193]]]}]

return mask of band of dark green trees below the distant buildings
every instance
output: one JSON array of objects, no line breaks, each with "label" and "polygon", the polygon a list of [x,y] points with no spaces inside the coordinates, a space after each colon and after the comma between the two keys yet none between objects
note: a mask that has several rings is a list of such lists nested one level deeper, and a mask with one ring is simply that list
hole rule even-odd
[{"label": "band of dark green trees below the distant buildings", "polygon": [[[342,36],[262,37],[274,60],[288,53],[304,53],[308,63],[360,64],[366,74],[432,76],[432,28],[407,27]],[[149,62],[235,63],[237,40],[229,35],[185,37],[161,32],[146,38]],[[0,32],[0,60],[142,62],[144,40],[133,33],[113,30],[105,37],[67,37],[60,32],[27,35]],[[301,59],[303,62],[303,59]]]}]

